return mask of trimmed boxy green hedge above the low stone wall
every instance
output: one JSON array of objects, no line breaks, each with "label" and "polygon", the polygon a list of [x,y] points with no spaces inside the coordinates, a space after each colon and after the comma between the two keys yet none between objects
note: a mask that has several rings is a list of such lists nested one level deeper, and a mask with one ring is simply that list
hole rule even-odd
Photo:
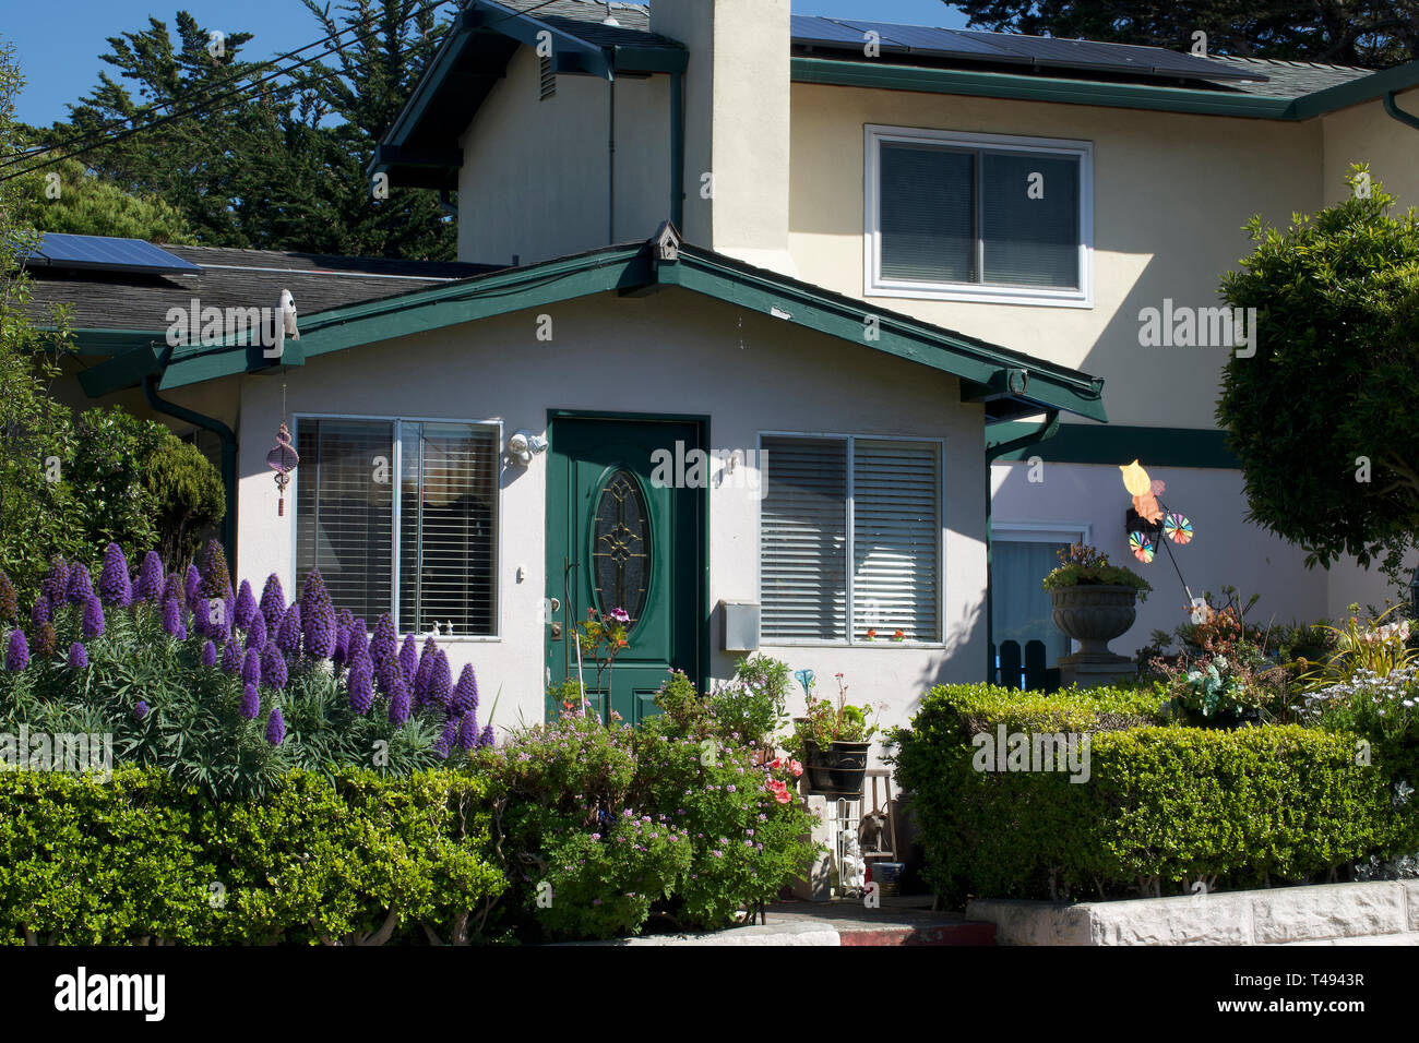
[{"label": "trimmed boxy green hedge above the low stone wall", "polygon": [[[1388,776],[1355,763],[1355,736],[1161,725],[1158,702],[1149,691],[934,688],[894,736],[928,883],[952,901],[1176,894],[1198,878],[1311,880],[1419,841]],[[999,725],[1088,734],[1088,780],[976,771],[972,736]]]}]

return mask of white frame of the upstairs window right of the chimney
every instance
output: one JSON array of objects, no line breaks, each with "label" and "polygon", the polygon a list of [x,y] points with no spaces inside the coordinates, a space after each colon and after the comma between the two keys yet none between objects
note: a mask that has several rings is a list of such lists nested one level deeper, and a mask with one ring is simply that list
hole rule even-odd
[{"label": "white frame of the upstairs window right of the chimney", "polygon": [[[920,301],[978,301],[1049,308],[1094,307],[1094,143],[1064,138],[1020,138],[1015,135],[965,133],[925,128],[864,125],[863,173],[863,295]],[[946,145],[969,150],[1029,152],[1078,159],[1078,287],[1049,289],[999,282],[922,282],[881,278],[880,183],[881,143]],[[981,186],[976,186],[979,199]],[[979,241],[979,240],[978,240]]]}]

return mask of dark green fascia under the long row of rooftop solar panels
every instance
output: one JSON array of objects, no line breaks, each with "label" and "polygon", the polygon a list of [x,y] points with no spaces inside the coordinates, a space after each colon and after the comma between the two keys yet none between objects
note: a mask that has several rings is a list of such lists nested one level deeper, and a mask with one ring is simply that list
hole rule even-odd
[{"label": "dark green fascia under the long row of rooftop solar panels", "polygon": [[1287,119],[1293,102],[1287,98],[1257,98],[1188,87],[1151,84],[1098,84],[1086,79],[1046,79],[1016,72],[918,68],[867,64],[833,58],[793,58],[792,78],[800,84],[866,87],[884,91],[965,94],[983,98],[1013,98],[1066,105],[1103,105],[1127,109],[1196,112],[1212,116]]}]

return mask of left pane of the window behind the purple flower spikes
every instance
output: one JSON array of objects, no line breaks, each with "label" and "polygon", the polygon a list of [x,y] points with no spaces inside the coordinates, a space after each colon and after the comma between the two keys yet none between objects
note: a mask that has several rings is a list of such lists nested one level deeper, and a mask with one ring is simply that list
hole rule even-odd
[{"label": "left pane of the window behind the purple flower spikes", "polygon": [[297,590],[319,568],[335,606],[368,620],[392,607],[393,438],[387,420],[297,424]]}]

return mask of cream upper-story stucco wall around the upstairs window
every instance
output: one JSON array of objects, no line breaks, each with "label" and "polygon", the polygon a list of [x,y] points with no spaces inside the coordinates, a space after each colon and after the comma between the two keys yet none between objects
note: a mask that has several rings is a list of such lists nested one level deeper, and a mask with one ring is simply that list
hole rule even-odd
[{"label": "cream upper-story stucco wall around the upstairs window", "polygon": [[[1226,351],[1141,348],[1138,312],[1216,307],[1256,213],[1321,202],[1320,123],[793,84],[789,245],[809,282],[863,297],[864,125],[1094,145],[1094,304],[1027,307],[871,298],[1107,380],[1112,423],[1212,427]],[[1264,336],[1264,331],[1263,331]]]}]

